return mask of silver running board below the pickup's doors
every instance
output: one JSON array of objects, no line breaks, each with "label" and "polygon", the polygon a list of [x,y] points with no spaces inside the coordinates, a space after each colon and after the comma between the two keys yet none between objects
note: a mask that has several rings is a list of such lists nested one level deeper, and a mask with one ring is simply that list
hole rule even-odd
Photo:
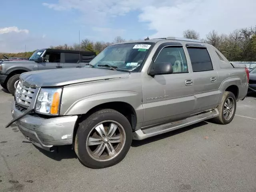
[{"label": "silver running board below the pickup's doors", "polygon": [[207,119],[214,118],[219,115],[219,112],[217,109],[213,109],[208,112],[204,112],[201,114],[197,114],[194,116],[190,116],[186,119],[182,119],[179,121],[174,121],[171,123],[163,124],[163,125],[158,125],[155,127],[150,127],[146,129],[139,129],[133,132],[133,139],[134,140],[143,140],[152,136],[156,136],[162,133],[166,133],[169,131],[173,131],[179,128],[183,128]]}]

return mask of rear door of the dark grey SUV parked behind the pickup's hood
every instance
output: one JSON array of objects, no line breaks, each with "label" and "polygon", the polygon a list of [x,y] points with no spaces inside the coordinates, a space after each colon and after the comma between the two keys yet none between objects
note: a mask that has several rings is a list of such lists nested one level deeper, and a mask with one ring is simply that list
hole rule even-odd
[{"label": "rear door of the dark grey SUV parked behind the pickup's hood", "polygon": [[64,68],[81,67],[79,53],[61,53],[61,59],[64,62]]}]

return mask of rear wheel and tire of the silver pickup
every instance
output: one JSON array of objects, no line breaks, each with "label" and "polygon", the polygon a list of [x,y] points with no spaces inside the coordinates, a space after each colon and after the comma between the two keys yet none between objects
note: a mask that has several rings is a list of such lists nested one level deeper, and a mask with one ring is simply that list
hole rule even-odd
[{"label": "rear wheel and tire of the silver pickup", "polygon": [[219,115],[212,120],[217,124],[229,124],[236,113],[236,97],[232,92],[225,91],[217,107]]}]

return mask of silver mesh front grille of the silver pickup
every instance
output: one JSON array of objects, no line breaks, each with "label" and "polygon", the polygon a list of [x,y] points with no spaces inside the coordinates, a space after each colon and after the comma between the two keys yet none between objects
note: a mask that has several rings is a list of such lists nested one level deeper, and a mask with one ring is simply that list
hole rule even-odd
[{"label": "silver mesh front grille of the silver pickup", "polygon": [[26,87],[21,82],[19,82],[15,92],[15,99],[17,104],[24,108],[28,108],[35,91],[36,88]]}]

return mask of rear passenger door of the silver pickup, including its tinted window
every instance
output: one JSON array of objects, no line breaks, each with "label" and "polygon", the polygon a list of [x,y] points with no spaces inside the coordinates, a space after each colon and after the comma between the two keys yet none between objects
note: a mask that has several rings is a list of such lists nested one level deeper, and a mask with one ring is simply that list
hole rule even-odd
[{"label": "rear passenger door of the silver pickup, including its tinted window", "polygon": [[186,44],[193,70],[195,113],[218,104],[218,72],[212,64],[207,47],[202,44]]}]

